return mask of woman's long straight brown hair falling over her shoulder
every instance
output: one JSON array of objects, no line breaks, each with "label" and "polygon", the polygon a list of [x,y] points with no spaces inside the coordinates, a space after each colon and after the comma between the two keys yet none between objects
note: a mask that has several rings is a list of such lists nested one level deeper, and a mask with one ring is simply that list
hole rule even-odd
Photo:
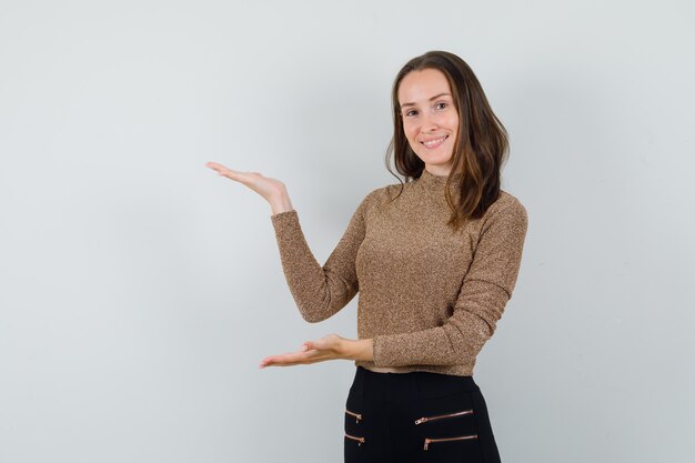
[{"label": "woman's long straight brown hair falling over her shoulder", "polygon": [[459,135],[454,143],[451,170],[451,174],[461,174],[462,179],[457,201],[454,201],[451,194],[451,174],[445,188],[446,202],[452,209],[447,224],[456,230],[469,219],[481,218],[497,200],[502,164],[508,155],[507,133],[500,119],[492,112],[483,88],[469,64],[453,53],[429,51],[405,63],[393,82],[391,93],[393,138],[386,150],[389,172],[395,175],[390,167],[391,154],[394,157],[396,171],[404,175],[406,181],[419,179],[425,168],[405,138],[399,102],[399,87],[403,78],[412,71],[423,69],[436,69],[446,77],[454,105],[459,111]]}]

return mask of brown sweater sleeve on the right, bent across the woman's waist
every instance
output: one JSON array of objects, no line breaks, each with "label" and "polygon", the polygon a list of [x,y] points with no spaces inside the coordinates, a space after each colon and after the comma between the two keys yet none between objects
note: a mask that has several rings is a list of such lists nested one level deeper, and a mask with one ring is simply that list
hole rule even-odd
[{"label": "brown sweater sleeve on the right, bent across the woman's waist", "polygon": [[375,336],[374,364],[472,365],[512,296],[526,230],[526,210],[518,201],[491,213],[481,229],[452,316],[441,326]]}]

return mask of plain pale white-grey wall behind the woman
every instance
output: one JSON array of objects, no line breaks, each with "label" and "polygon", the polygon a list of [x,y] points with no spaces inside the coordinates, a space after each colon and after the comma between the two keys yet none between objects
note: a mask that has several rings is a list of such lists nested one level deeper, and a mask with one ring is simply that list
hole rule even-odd
[{"label": "plain pale white-grey wall behind the woman", "polygon": [[452,51],[530,228],[479,356],[503,461],[692,461],[691,1],[0,1],[0,462],[340,462],[351,362],[259,370],[303,322],[270,208],[324,262],[390,89]]}]

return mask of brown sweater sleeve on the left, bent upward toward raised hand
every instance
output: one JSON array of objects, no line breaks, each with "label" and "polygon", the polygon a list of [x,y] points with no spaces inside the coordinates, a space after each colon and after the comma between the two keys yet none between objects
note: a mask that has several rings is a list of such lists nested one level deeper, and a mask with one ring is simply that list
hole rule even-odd
[{"label": "brown sweater sleeve on the left, bent upward toward raised hand", "polygon": [[320,322],[344,308],[357,293],[355,258],[365,233],[367,194],[353,213],[338,245],[321,266],[314,258],[296,210],[271,215],[283,272],[300,313]]}]

